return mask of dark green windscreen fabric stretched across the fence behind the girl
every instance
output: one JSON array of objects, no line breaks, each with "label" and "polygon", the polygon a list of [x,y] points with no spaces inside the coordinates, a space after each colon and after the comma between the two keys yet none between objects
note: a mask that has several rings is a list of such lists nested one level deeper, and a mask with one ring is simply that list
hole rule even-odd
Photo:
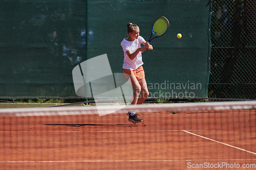
[{"label": "dark green windscreen fabric stretched across the fence behind the girl", "polygon": [[165,16],[168,31],[151,41],[153,51],[142,53],[149,97],[206,97],[208,3],[4,0],[0,96],[78,98],[72,77],[78,64],[106,54],[113,74],[122,73],[127,23],[138,25],[147,41],[154,21]]}]

